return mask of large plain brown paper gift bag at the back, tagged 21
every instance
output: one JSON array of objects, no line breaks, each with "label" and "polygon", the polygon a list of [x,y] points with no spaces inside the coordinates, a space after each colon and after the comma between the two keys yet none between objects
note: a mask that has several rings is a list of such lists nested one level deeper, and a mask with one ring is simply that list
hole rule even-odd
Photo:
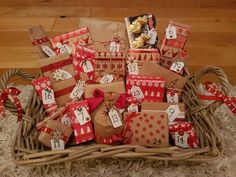
[{"label": "large plain brown paper gift bag at the back, tagged 21", "polygon": [[111,42],[120,44],[119,52],[126,52],[129,48],[124,23],[80,18],[79,27],[89,28],[97,52],[110,52]]}]

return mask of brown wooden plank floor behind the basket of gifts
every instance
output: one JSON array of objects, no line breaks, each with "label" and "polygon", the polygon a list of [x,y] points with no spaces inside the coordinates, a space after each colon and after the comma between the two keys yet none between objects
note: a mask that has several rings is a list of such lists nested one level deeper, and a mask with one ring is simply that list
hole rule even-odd
[{"label": "brown wooden plank floor behind the basket of gifts", "polygon": [[125,16],[145,12],[156,16],[161,39],[170,19],[192,26],[186,45],[190,72],[217,65],[236,84],[235,0],[1,0],[0,73],[8,68],[38,72],[39,57],[27,34],[31,25],[42,24],[55,35],[76,29],[79,17],[123,22]]}]

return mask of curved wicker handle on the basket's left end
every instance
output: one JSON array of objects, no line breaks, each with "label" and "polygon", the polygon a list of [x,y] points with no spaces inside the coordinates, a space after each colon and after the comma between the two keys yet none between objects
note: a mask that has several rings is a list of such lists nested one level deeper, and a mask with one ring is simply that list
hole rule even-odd
[{"label": "curved wicker handle on the basket's left end", "polygon": [[7,87],[8,82],[10,81],[11,78],[15,76],[20,76],[23,79],[26,79],[28,81],[32,81],[35,79],[33,75],[30,73],[22,70],[22,69],[10,69],[6,71],[0,78],[0,91],[4,90]]}]

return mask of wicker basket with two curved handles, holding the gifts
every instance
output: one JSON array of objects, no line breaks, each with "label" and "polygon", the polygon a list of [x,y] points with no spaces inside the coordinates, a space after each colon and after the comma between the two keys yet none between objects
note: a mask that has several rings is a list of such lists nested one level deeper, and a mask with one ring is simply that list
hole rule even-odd
[{"label": "wicker basket with two curved handles, holding the gifts", "polygon": [[[35,91],[29,98],[24,110],[23,120],[19,122],[18,133],[12,146],[12,157],[17,165],[40,166],[75,160],[87,160],[101,157],[130,158],[141,157],[163,161],[209,161],[219,158],[223,153],[223,143],[215,123],[214,111],[222,102],[204,105],[197,96],[196,85],[199,79],[207,74],[215,74],[221,84],[222,91],[228,95],[228,79],[224,72],[214,66],[203,67],[195,75],[189,77],[181,99],[187,110],[187,120],[192,121],[200,139],[200,148],[182,149],[178,147],[148,148],[140,145],[110,146],[103,144],[89,144],[72,146],[66,150],[51,151],[37,140],[36,124],[43,120],[45,112]],[[29,81],[34,77],[20,69],[11,69],[0,79],[0,91],[7,87],[12,77],[21,76]],[[16,114],[16,108],[10,102],[6,108]]]}]

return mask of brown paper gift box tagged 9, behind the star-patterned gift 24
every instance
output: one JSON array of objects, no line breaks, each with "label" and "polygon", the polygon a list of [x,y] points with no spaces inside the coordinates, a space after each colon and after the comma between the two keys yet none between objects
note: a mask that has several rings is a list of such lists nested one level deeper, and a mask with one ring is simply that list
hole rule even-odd
[{"label": "brown paper gift box tagged 9, behind the star-patterned gift 24", "polygon": [[170,104],[166,102],[142,102],[142,111],[152,110],[155,112],[166,112],[169,122],[185,121],[185,108],[183,103]]}]

